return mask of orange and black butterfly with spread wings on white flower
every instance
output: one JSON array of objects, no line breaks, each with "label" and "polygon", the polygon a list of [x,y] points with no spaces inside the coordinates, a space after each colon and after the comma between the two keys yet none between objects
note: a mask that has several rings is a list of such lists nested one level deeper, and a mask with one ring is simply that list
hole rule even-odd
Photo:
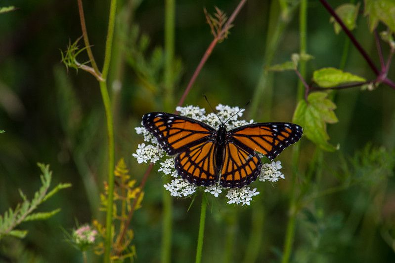
[{"label": "orange and black butterfly with spread wings on white flower", "polygon": [[257,152],[273,160],[299,141],[301,126],[287,122],[253,123],[226,130],[226,121],[216,130],[201,121],[171,113],[147,113],[143,126],[168,155],[176,155],[176,171],[197,186],[219,182],[225,188],[241,188],[254,182],[262,162]]}]

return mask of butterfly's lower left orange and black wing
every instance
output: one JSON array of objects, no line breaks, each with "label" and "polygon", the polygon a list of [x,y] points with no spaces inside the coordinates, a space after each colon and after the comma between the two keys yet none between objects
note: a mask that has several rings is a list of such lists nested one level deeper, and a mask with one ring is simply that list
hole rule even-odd
[{"label": "butterfly's lower left orange and black wing", "polygon": [[214,185],[218,181],[216,147],[214,141],[205,141],[182,151],[176,157],[178,174],[197,186]]}]

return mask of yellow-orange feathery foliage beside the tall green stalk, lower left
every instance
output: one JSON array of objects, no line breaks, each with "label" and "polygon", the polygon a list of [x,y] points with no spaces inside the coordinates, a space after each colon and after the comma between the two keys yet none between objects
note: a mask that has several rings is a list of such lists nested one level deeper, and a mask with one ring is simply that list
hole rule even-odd
[{"label": "yellow-orange feathery foliage beside the tall green stalk, lower left", "polygon": [[[136,180],[132,180],[129,175],[129,170],[126,166],[125,160],[122,158],[118,161],[115,171],[114,171],[116,182],[114,188],[114,206],[113,206],[113,225],[112,225],[112,251],[111,260],[112,261],[123,261],[126,259],[133,259],[136,255],[135,246],[131,245],[134,237],[132,229],[126,230],[125,236],[122,238],[122,232],[128,226],[127,218],[128,214],[132,210],[132,202],[137,197],[138,201],[134,208],[137,210],[141,207],[141,201],[144,196],[144,192],[141,192],[139,187],[135,187]],[[107,211],[108,202],[108,186],[107,183],[104,184],[105,192],[100,194],[100,211]],[[97,220],[93,221],[93,225],[96,227],[99,235],[103,237],[106,236],[106,229]],[[122,240],[121,240],[122,238]],[[101,255],[104,252],[104,243],[99,242],[95,253]]]}]

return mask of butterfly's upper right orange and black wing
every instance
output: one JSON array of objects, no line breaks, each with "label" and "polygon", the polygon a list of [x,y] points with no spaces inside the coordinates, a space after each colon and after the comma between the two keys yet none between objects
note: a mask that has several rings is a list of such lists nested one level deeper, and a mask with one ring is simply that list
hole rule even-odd
[{"label": "butterfly's upper right orange and black wing", "polygon": [[249,152],[261,152],[270,160],[299,141],[302,134],[301,126],[287,122],[255,123],[229,131],[233,143]]}]

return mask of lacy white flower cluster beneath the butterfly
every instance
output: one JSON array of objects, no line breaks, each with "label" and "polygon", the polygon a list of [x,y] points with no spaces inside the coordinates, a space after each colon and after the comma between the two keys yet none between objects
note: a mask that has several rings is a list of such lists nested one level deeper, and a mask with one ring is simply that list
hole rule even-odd
[{"label": "lacy white flower cluster beneath the butterfly", "polygon": [[[226,122],[228,130],[254,122],[254,120],[246,121],[238,119],[243,115],[244,112],[244,109],[240,111],[240,108],[238,107],[229,107],[227,105],[219,104],[216,107],[216,110],[218,116],[215,113],[205,114],[205,109],[195,106],[176,108],[176,111],[180,115],[200,120],[216,129],[221,124],[221,121],[224,122],[229,118],[230,119],[228,122]],[[240,112],[237,113],[238,111]],[[186,197],[193,194],[197,187],[178,176],[175,168],[175,157],[166,155],[166,152],[160,148],[157,139],[144,127],[136,127],[135,130],[137,134],[143,135],[144,142],[147,143],[139,144],[136,153],[132,154],[133,157],[137,159],[137,162],[155,163],[164,157],[164,159],[162,159],[163,161],[160,162],[160,168],[158,171],[163,172],[165,175],[170,175],[173,178],[172,181],[164,185],[164,187],[170,191],[172,196]],[[271,164],[263,164],[259,180],[276,182],[278,181],[278,178],[284,179],[284,175],[279,171],[279,169],[281,169],[280,161],[272,162]],[[218,197],[223,190],[227,191],[226,197],[229,199],[227,202],[228,204],[250,205],[252,197],[259,194],[259,192],[256,191],[256,188],[253,190],[251,190],[249,187],[229,189],[223,188],[219,186],[219,184],[206,187],[204,191],[213,194],[215,197]]]}]

